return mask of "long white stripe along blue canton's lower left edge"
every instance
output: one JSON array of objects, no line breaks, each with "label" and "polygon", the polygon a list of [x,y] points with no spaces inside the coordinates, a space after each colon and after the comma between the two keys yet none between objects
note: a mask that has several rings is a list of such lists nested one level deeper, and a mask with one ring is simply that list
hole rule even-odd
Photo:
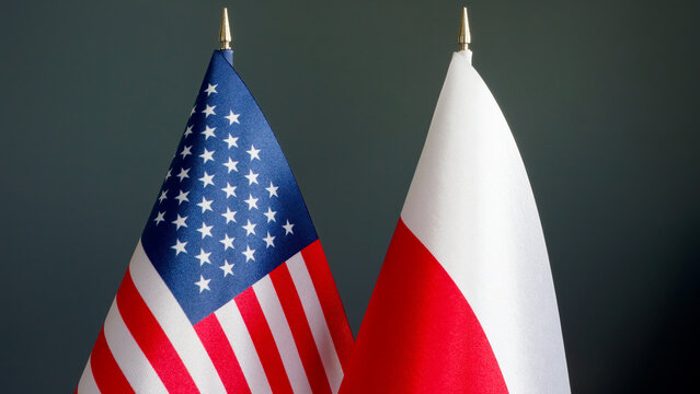
[{"label": "long white stripe along blue canton's lower left edge", "polygon": [[203,393],[226,393],[223,383],[192,323],[146,255],[140,241],[131,257],[129,269],[136,289],[165,332],[197,389]]}]

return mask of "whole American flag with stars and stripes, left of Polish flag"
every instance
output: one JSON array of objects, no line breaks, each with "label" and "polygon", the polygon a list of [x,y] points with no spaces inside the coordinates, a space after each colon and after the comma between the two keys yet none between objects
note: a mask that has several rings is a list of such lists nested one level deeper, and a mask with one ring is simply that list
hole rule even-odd
[{"label": "whole American flag with stars and stripes, left of Polish flag", "polygon": [[217,50],[77,393],[335,393],[352,345],[289,165]]}]

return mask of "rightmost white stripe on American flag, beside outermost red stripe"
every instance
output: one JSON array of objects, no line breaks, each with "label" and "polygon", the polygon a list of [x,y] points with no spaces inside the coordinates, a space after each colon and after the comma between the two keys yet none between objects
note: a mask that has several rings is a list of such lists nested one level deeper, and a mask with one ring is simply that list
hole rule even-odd
[{"label": "rightmost white stripe on American flag, beside outermost red stripe", "polygon": [[303,313],[309,322],[311,335],[319,349],[319,355],[321,355],[321,362],[323,363],[325,375],[329,378],[329,383],[331,383],[331,390],[333,393],[337,393],[341,381],[343,380],[343,368],[341,367],[341,360],[333,345],[331,331],[323,316],[323,309],[321,309],[319,296],[315,292],[313,281],[303,262],[303,257],[301,257],[301,253],[297,253],[289,258],[287,260],[287,267],[289,268],[291,280],[301,300],[301,306],[303,306]]}]

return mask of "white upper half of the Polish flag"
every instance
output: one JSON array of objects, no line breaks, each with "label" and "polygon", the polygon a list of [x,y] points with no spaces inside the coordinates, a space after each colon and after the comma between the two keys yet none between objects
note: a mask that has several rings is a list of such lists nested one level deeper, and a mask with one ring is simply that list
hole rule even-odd
[{"label": "white upper half of the Polish flag", "polygon": [[570,393],[532,190],[469,50],[452,56],[401,218],[471,305],[509,393]]}]

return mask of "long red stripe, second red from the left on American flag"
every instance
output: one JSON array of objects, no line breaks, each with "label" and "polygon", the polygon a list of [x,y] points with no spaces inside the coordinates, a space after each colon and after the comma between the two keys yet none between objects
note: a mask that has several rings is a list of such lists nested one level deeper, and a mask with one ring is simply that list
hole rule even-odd
[{"label": "long red stripe, second red from the left on American flag", "polygon": [[169,392],[198,393],[185,364],[138,293],[130,270],[117,292],[117,308],[131,336]]}]

